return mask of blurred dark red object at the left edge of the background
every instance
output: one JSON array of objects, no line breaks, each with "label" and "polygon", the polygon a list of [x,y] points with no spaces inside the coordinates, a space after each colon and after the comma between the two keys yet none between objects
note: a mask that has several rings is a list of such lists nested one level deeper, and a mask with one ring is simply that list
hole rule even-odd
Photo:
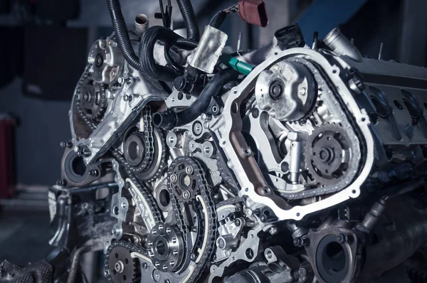
[{"label": "blurred dark red object at the left edge of the background", "polygon": [[0,198],[13,196],[15,190],[14,128],[14,119],[0,117]]}]

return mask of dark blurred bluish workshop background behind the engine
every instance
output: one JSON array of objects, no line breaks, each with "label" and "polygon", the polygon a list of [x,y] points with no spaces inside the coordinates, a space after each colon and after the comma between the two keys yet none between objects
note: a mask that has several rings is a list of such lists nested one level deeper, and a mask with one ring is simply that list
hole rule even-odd
[{"label": "dark blurred bluish workshop background behind the engine", "polygon": [[[216,11],[236,1],[194,0],[201,31]],[[162,25],[154,18],[157,0],[121,2],[130,28],[137,14],[149,16],[150,26]],[[179,9],[172,4],[174,28],[183,28]],[[250,26],[238,16],[227,18],[221,29],[228,33],[228,46],[259,48],[290,23],[300,24],[310,46],[315,31],[323,38],[339,26],[363,55],[377,58],[383,43],[384,60],[427,63],[427,1],[265,4],[270,20],[266,28]],[[0,262],[27,265],[51,251],[47,192],[60,176],[59,144],[70,138],[70,100],[91,44],[111,32],[104,0],[0,0]]]}]

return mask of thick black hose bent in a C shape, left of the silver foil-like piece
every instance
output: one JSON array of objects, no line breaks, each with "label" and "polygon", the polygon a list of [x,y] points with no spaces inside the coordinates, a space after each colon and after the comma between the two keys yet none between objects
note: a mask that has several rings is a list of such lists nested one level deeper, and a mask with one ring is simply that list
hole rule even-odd
[{"label": "thick black hose bent in a C shape, left of the silver foil-like piece", "polygon": [[154,46],[157,41],[169,43],[181,38],[169,28],[163,26],[153,26],[144,33],[139,43],[139,63],[142,71],[154,80],[171,82],[179,73],[176,70],[159,65],[154,60]]}]

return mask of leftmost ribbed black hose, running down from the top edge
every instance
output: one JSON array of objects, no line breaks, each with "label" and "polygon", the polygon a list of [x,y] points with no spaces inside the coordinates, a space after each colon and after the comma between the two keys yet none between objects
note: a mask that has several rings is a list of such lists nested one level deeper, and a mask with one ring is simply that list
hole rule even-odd
[{"label": "leftmost ribbed black hose, running down from the top edge", "polygon": [[125,23],[125,18],[123,18],[122,9],[120,9],[119,0],[107,0],[108,10],[110,11],[111,22],[116,33],[117,43],[122,50],[123,57],[136,70],[142,71],[142,66],[139,63],[139,58],[135,54],[135,51],[132,48],[132,43],[130,43],[129,33],[127,32],[127,27]]}]

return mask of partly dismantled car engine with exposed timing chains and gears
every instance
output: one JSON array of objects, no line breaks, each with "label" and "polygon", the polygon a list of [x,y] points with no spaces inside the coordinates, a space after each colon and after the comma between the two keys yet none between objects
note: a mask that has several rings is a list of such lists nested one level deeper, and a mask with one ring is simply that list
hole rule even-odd
[{"label": "partly dismantled car engine with exposed timing chains and gears", "polygon": [[[427,71],[362,57],[338,28],[297,24],[228,52],[220,26],[186,36],[147,16],[93,43],[50,193],[51,245],[105,253],[110,282],[367,282],[427,245]],[[181,33],[180,33],[181,34]],[[59,269],[58,269],[59,270]],[[61,281],[62,282],[62,281]]]}]

